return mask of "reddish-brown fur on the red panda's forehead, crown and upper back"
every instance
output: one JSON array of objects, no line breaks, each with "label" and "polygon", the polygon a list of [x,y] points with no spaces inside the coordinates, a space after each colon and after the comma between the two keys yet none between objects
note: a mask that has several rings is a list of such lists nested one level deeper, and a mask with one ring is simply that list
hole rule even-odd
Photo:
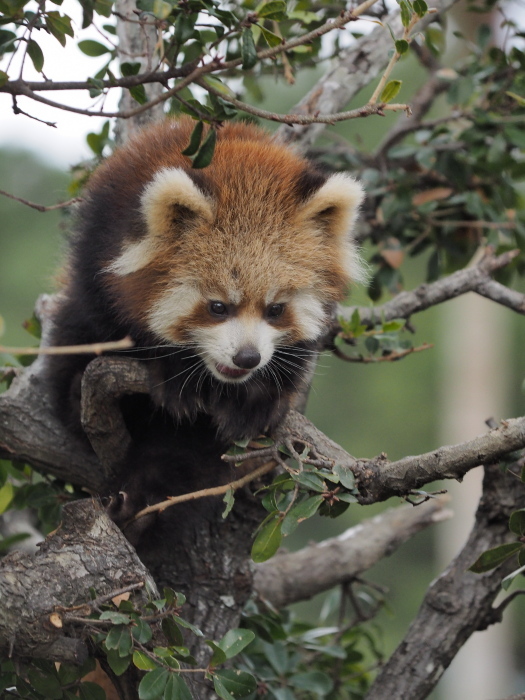
[{"label": "reddish-brown fur on the red panda's forehead, crown and upper back", "polygon": [[[130,202],[136,206],[145,184],[160,169],[191,167],[180,151],[187,146],[193,126],[187,118],[175,126],[168,121],[148,129],[108,159],[95,172],[90,187],[96,189],[110,178],[115,206]],[[205,297],[231,288],[236,276],[244,298],[252,301],[260,302],[272,288],[276,292],[315,288],[327,302],[341,299],[348,277],[337,249],[330,240],[312,235],[311,226],[298,219],[296,185],[306,166],[303,158],[256,127],[242,123],[221,127],[212,163],[203,171],[205,186],[216,202],[214,225],[202,222],[191,235],[166,238],[162,252],[134,274],[106,276],[127,314],[144,317],[175,278],[198,280]],[[129,231],[127,241],[137,240],[144,232]],[[256,263],[257,274],[248,260]]]}]

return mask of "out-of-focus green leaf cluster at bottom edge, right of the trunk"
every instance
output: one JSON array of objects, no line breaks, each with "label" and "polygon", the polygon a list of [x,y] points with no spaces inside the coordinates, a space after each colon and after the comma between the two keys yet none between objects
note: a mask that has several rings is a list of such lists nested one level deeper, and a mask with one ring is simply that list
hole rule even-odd
[{"label": "out-of-focus green leaf cluster at bottom edge, right of the trunk", "polygon": [[[363,607],[374,609],[377,591],[359,590]],[[319,619],[304,622],[289,611],[276,612],[250,602],[242,624],[257,637],[241,657],[240,668],[258,682],[258,697],[265,700],[357,700],[371,681],[371,668],[382,660],[373,628],[341,616],[344,593],[333,591]],[[331,624],[336,615],[339,624]]]}]

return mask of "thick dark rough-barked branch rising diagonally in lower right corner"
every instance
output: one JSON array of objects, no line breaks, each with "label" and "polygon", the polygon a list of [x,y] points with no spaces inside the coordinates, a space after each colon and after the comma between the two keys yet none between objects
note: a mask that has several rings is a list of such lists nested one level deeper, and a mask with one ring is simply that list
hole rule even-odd
[{"label": "thick dark rough-barked branch rising diagonally in lower right corner", "polygon": [[367,700],[428,697],[459,649],[473,632],[497,621],[492,607],[502,578],[517,568],[508,560],[495,570],[467,569],[487,549],[515,539],[509,532],[511,512],[525,505],[523,485],[498,467],[486,469],[476,524],[463,550],[431,585],[418,616],[382,668]]}]

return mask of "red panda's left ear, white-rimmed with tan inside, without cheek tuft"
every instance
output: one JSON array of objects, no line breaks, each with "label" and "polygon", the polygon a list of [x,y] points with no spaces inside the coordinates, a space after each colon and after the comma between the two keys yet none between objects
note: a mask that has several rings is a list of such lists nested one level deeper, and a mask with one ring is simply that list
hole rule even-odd
[{"label": "red panda's left ear, white-rimmed with tan inside, without cheek tuft", "polygon": [[182,168],[164,168],[147,185],[141,197],[148,237],[176,235],[186,225],[213,221],[210,199]]}]

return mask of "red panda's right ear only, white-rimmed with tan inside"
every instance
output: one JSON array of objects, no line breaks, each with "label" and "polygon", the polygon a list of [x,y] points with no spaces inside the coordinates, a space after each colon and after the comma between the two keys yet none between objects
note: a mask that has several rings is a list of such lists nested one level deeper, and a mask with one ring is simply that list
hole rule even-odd
[{"label": "red panda's right ear only, white-rimmed with tan inside", "polygon": [[351,237],[363,198],[363,189],[356,180],[336,173],[305,203],[302,215],[325,236],[343,242]]}]

